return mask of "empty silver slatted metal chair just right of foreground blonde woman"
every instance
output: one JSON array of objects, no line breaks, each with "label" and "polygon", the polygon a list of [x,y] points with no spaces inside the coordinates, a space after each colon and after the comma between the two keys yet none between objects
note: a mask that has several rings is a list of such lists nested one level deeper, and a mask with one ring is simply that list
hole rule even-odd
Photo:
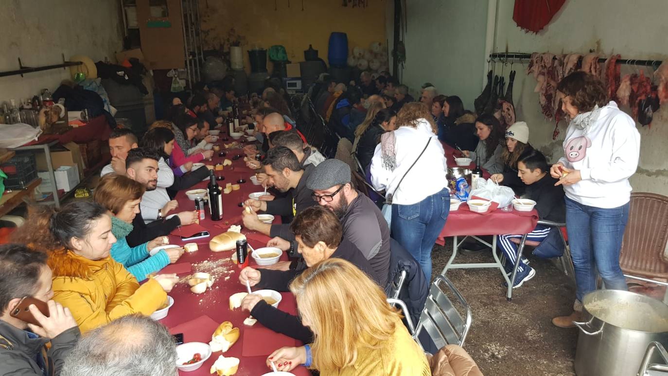
[{"label": "empty silver slatted metal chair just right of foreground blonde woman", "polygon": [[[462,305],[464,315],[456,309],[450,301],[444,288],[450,291]],[[459,345],[464,347],[466,335],[471,327],[471,307],[466,303],[460,292],[452,282],[443,275],[434,279],[427,297],[424,310],[420,316],[420,323],[415,329],[413,339],[417,340],[422,330],[427,331],[437,349],[445,345]]]}]

